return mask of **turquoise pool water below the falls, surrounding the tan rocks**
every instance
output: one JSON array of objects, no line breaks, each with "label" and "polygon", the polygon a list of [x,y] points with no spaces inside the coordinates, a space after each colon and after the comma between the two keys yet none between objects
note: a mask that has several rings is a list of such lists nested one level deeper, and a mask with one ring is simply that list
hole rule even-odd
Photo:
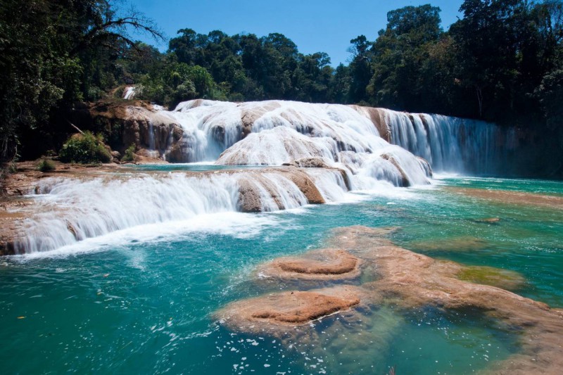
[{"label": "turquoise pool water below the falls, surrounding the tan rocks", "polygon": [[[253,278],[260,262],[320,247],[331,228],[355,224],[401,227],[393,241],[435,258],[512,269],[526,278],[517,293],[563,307],[563,213],[491,204],[450,189],[510,186],[561,194],[563,184],[461,177],[439,183],[357,196],[362,199],[355,203],[236,214],[233,220],[246,224],[224,231],[203,226],[150,241],[107,241],[80,253],[4,258],[2,372],[386,374],[396,366],[397,374],[467,374],[483,369],[518,351],[517,333],[475,311],[373,306],[360,311],[357,321],[334,315],[302,336],[289,330],[282,338],[229,331],[213,319],[215,310],[233,300],[270,291]],[[486,217],[500,222],[478,221]],[[476,245],[460,246],[471,238],[479,240]]]}]

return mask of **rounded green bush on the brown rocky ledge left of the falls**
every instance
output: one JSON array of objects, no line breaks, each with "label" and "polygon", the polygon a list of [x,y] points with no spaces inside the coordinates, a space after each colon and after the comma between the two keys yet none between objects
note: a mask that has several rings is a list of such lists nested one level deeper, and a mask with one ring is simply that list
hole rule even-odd
[{"label": "rounded green bush on the brown rocky ledge left of the falls", "polygon": [[91,132],[72,135],[58,153],[63,163],[109,163],[111,154],[103,145],[101,134],[94,136]]}]

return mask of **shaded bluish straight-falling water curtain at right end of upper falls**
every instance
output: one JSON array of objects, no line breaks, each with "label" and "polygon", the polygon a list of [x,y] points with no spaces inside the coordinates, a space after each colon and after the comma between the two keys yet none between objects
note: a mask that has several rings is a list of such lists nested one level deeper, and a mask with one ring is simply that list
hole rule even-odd
[{"label": "shaded bluish straight-falling water curtain at right end of upper falls", "polygon": [[479,120],[385,110],[391,143],[429,161],[437,172],[502,172],[514,132]]}]

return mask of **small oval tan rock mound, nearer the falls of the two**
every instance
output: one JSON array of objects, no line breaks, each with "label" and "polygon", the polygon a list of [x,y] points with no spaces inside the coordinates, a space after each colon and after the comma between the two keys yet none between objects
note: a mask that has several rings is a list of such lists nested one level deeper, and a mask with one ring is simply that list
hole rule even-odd
[{"label": "small oval tan rock mound, nearer the falls of the two", "polygon": [[343,280],[360,276],[361,261],[344,250],[312,250],[298,257],[277,258],[258,267],[261,277]]}]

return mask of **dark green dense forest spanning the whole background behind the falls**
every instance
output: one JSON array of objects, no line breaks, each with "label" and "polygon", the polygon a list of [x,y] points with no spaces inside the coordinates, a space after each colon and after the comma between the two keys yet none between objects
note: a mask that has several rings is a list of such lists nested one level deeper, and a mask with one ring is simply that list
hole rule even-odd
[{"label": "dark green dense forest spanning the whole background behind the falls", "polygon": [[[543,127],[563,140],[562,0],[465,0],[447,31],[440,8],[388,13],[374,41],[350,40],[348,65],[303,54],[283,34],[198,34],[165,53],[128,32],[162,38],[133,8],[104,0],[4,0],[0,8],[0,158],[37,157],[49,134],[72,132],[81,101],[137,98],[173,107],[191,98],[358,103]],[[44,137],[44,150],[26,149]]]}]

